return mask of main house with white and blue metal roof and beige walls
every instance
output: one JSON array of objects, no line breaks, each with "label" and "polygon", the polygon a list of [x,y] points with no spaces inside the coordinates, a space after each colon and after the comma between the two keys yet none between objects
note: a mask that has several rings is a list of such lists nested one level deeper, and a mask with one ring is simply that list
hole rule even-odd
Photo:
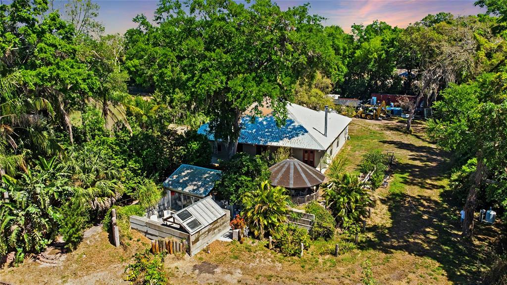
[{"label": "main house with white and blue metal roof and beige walls", "polygon": [[[287,147],[296,159],[319,170],[327,168],[348,139],[348,125],[352,120],[328,108],[315,111],[294,103],[287,104],[287,113],[281,127],[271,115],[253,119],[243,116],[237,152],[260,155]],[[226,142],[215,140],[208,124],[202,125],[197,132],[208,137],[213,149],[213,163],[227,157]]]}]

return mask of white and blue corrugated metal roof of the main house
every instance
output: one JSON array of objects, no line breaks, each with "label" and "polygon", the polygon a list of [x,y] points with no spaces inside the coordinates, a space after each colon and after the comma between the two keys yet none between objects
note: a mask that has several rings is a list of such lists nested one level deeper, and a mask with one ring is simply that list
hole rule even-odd
[{"label": "white and blue corrugated metal roof of the main house", "polygon": [[[324,136],[323,111],[314,111],[297,104],[287,105],[288,118],[280,128],[272,116],[241,118],[240,144],[289,147],[309,150],[327,150],[336,137],[348,126],[351,119],[335,112],[328,114],[328,136]],[[209,133],[208,124],[202,125],[198,131],[214,140]]]}]

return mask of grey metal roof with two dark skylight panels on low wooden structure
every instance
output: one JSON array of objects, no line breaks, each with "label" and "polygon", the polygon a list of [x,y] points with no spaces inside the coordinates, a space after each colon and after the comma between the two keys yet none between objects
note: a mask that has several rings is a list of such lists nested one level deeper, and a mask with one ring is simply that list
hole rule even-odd
[{"label": "grey metal roof with two dark skylight panels on low wooden structure", "polygon": [[[183,211],[190,212],[193,218],[186,219],[184,223],[178,217],[178,213]],[[172,215],[172,217],[174,217],[174,220],[182,225],[190,234],[194,234],[200,229],[205,228],[214,221],[222,218],[224,215],[225,211],[219,205],[217,205],[213,199],[211,199],[211,197],[206,197],[182,210],[177,211]],[[197,220],[197,222],[199,222],[202,226],[192,227],[192,225],[188,225],[190,222],[193,222],[194,219]],[[193,224],[196,223],[193,222]]]}]

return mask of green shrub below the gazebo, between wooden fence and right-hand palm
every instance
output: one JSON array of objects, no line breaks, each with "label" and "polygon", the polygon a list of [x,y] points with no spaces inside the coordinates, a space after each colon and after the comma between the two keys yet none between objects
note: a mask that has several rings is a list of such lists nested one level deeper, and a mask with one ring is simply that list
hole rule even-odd
[{"label": "green shrub below the gazebo, between wooden fence and right-hand palm", "polygon": [[305,210],[307,213],[315,215],[315,222],[310,230],[310,238],[313,240],[319,237],[323,237],[324,239],[332,238],[335,234],[336,223],[331,212],[324,209],[316,201],[312,201],[306,205]]}]

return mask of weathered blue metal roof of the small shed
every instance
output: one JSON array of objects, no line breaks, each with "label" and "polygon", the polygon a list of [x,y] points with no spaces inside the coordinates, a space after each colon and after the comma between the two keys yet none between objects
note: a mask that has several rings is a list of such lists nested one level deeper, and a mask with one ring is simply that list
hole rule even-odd
[{"label": "weathered blue metal roof of the small shed", "polygon": [[222,171],[182,164],[172,172],[163,185],[171,190],[205,197],[222,177]]}]

